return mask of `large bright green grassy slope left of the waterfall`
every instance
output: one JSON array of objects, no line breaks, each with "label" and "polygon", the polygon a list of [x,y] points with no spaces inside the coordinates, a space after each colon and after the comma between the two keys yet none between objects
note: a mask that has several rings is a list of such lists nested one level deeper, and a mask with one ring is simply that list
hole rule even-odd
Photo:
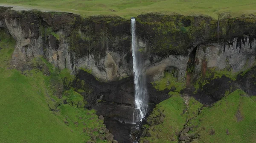
[{"label": "large bright green grassy slope left of the waterfall", "polygon": [[[79,108],[83,105],[80,94],[69,90],[57,98],[59,88],[55,87],[61,77],[49,63],[44,70],[10,69],[14,46],[15,40],[1,31],[0,143],[84,143],[90,140],[91,130],[98,135],[103,121],[93,111]],[[31,65],[40,65],[38,61]],[[41,64],[45,65],[43,60]]]}]

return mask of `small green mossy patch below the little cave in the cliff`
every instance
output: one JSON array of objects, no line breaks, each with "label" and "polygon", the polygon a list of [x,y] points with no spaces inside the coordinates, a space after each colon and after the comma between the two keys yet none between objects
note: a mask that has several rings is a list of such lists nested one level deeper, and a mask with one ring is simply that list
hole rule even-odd
[{"label": "small green mossy patch below the little cave in the cliff", "polygon": [[184,82],[179,82],[175,77],[173,77],[172,73],[165,72],[164,78],[159,81],[155,81],[151,83],[155,89],[163,91],[165,89],[170,90],[172,87],[175,87],[175,92],[180,92],[180,90],[185,88]]}]

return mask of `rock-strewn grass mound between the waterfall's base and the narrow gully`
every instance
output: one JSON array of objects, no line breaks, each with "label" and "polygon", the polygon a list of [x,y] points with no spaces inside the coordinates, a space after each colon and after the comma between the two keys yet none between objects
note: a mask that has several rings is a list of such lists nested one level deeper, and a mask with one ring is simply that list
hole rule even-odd
[{"label": "rock-strewn grass mound between the waterfall's base and the narrow gully", "polygon": [[[148,140],[150,143],[177,143],[178,139],[175,133],[180,132],[186,120],[195,117],[201,107],[201,103],[190,98],[189,106],[186,109],[183,98],[180,95],[172,95],[171,98],[157,104],[157,107],[148,117],[149,120],[154,119],[162,112],[166,116],[163,123],[153,125],[150,128],[147,126],[151,137],[143,137],[142,140]],[[175,140],[171,141],[172,138]]]}]

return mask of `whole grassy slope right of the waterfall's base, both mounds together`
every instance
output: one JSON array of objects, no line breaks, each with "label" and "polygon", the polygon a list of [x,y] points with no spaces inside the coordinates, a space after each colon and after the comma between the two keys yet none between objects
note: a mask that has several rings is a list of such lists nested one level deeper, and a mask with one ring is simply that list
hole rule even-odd
[{"label": "whole grassy slope right of the waterfall's base, both mounds together", "polygon": [[[190,130],[185,135],[194,139],[192,143],[254,143],[255,98],[256,96],[248,97],[243,91],[236,90],[211,107],[203,107],[194,98],[172,95],[158,104],[148,117],[151,126],[145,125],[146,137],[141,140],[148,140],[150,143],[177,143],[183,127],[188,127]],[[164,117],[163,123],[160,122],[161,116]]]}]

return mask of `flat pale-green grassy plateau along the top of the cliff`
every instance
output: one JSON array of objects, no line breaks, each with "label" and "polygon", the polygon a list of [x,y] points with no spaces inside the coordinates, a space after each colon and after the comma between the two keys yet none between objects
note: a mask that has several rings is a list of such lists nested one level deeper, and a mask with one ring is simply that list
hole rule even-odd
[{"label": "flat pale-green grassy plateau along the top of the cliff", "polygon": [[82,16],[106,14],[126,18],[149,12],[206,14],[216,19],[221,13],[256,14],[255,0],[0,0],[0,3],[69,11]]}]

